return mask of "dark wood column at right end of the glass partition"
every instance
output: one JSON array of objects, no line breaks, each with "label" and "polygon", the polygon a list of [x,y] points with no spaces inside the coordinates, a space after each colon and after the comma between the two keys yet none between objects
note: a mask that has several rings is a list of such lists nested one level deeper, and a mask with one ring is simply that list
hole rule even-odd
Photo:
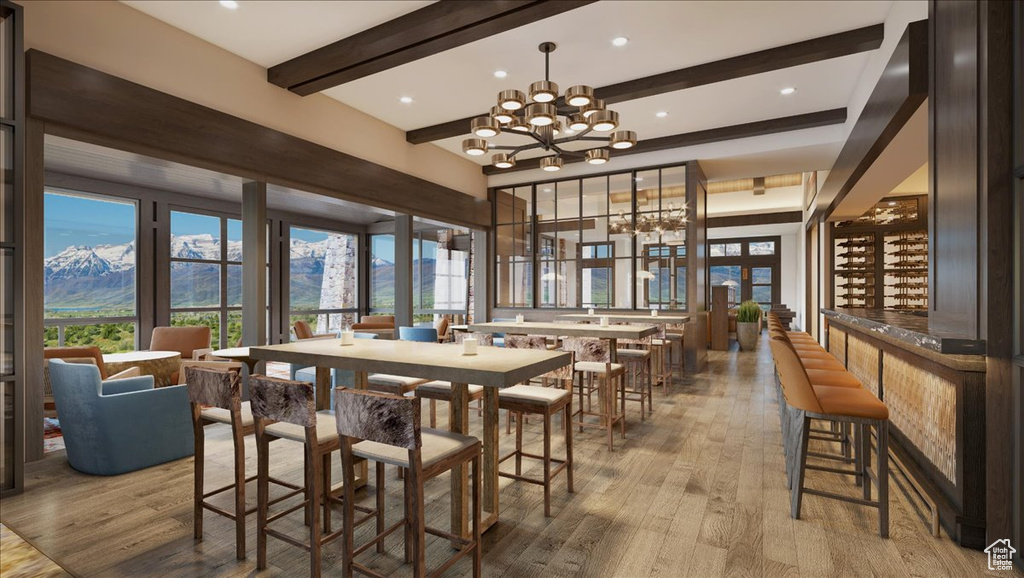
[{"label": "dark wood column at right end of the glass partition", "polygon": [[683,347],[687,373],[708,364],[708,178],[696,161],[686,164],[686,324]]}]

